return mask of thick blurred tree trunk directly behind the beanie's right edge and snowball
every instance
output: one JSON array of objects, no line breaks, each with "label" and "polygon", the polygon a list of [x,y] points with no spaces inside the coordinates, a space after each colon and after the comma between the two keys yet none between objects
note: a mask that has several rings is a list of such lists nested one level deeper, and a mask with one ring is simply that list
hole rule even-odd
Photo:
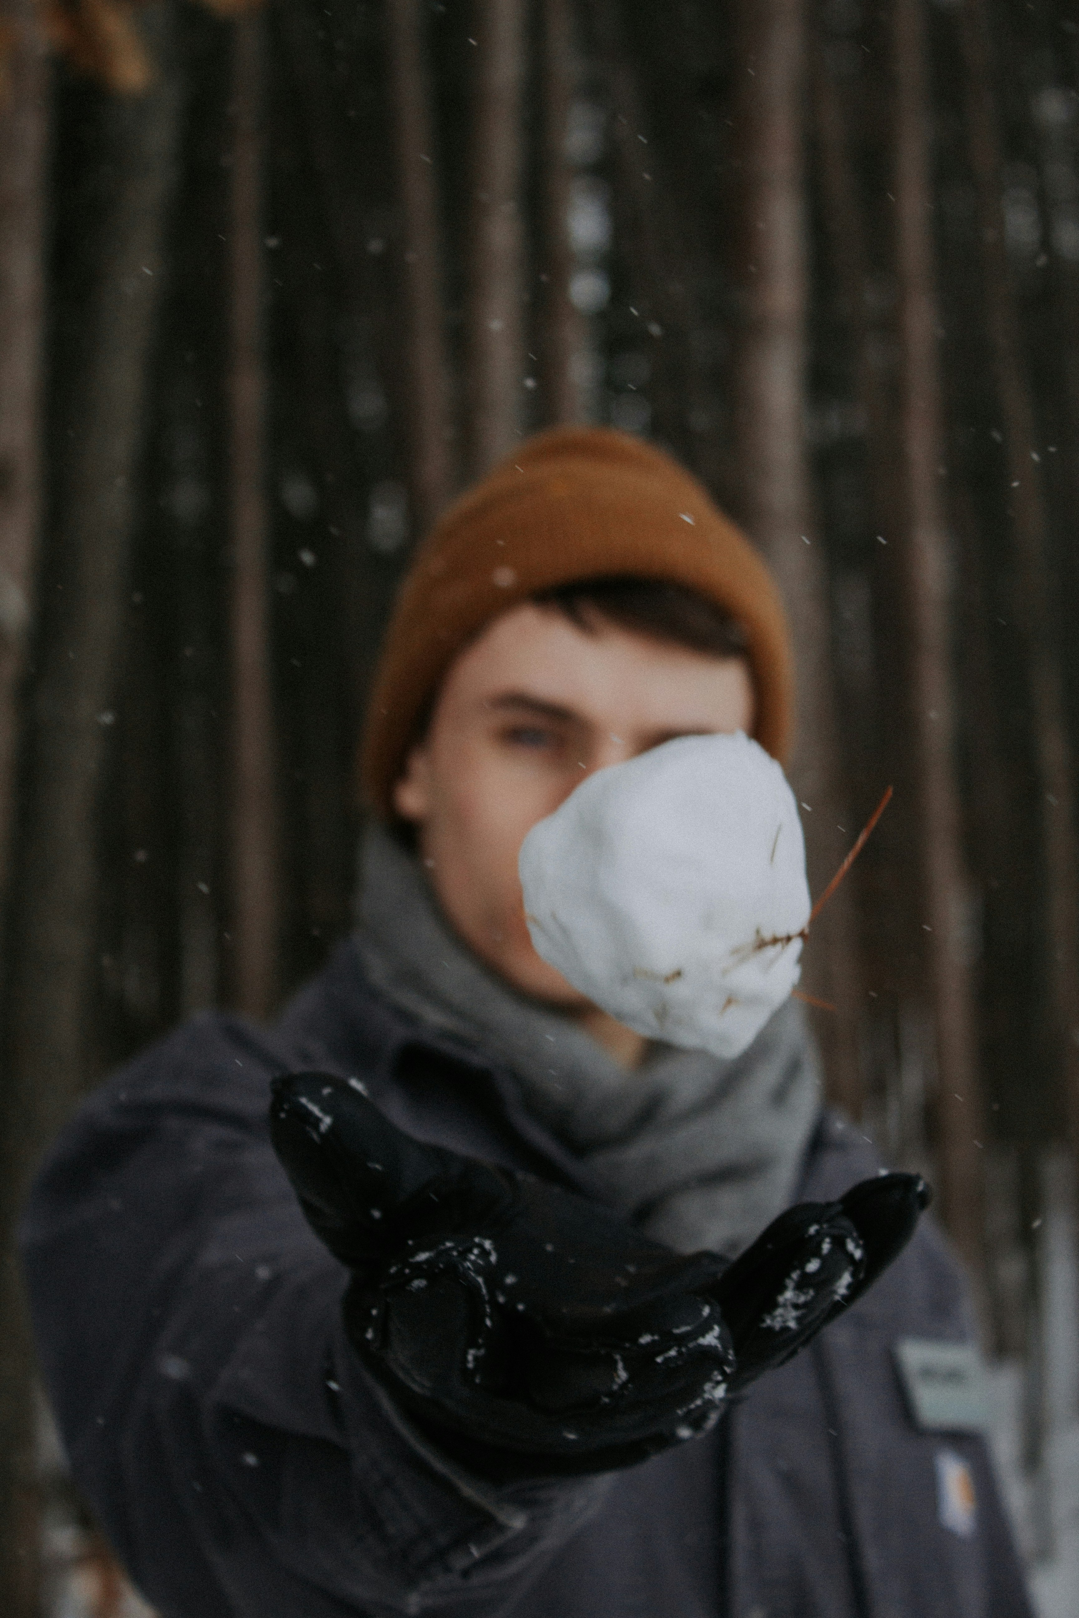
[{"label": "thick blurred tree trunk directly behind the beanie's right edge and snowball", "polygon": [[[775,573],[791,620],[798,739],[789,760],[806,809],[809,880],[822,893],[851,841],[843,812],[828,581],[812,529],[804,443],[809,296],[802,0],[741,0],[734,128],[741,165],[741,330],[733,366],[741,516]],[[844,827],[844,832],[838,828]],[[848,887],[814,925],[806,989],[836,1006],[817,1021],[828,1089],[861,1110],[859,958]]]}]

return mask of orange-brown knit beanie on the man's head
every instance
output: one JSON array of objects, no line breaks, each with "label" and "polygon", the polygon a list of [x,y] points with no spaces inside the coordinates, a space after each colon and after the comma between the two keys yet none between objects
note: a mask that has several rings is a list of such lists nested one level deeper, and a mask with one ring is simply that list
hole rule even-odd
[{"label": "orange-brown knit beanie on the man's head", "polygon": [[438,519],[416,553],[375,670],[361,749],[366,799],[391,815],[425,705],[484,625],[578,579],[684,584],[744,628],[755,738],[783,760],[793,671],[778,591],[749,540],[668,455],[605,427],[524,442]]}]

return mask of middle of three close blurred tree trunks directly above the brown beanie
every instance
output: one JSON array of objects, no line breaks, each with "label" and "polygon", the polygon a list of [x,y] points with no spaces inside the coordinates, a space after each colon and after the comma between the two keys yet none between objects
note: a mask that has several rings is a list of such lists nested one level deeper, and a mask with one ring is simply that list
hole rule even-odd
[{"label": "middle of three close blurred tree trunks directly above the brown beanie", "polygon": [[524,0],[476,0],[468,293],[469,476],[521,438]]}]

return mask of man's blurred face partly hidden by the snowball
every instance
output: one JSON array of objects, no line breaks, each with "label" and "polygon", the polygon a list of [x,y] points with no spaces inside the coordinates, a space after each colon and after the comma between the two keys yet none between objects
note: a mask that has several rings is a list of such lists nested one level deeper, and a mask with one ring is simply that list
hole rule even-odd
[{"label": "man's blurred face partly hidden by the snowball", "polygon": [[743,659],[524,604],[461,652],[393,804],[419,830],[443,913],[472,951],[565,1010],[587,1002],[532,948],[518,853],[586,775],[675,736],[752,730]]}]

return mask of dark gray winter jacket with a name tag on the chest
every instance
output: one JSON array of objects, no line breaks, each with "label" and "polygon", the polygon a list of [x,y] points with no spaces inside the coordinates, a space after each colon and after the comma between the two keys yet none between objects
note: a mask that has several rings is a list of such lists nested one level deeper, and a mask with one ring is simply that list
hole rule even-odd
[{"label": "dark gray winter jacket with a name tag on the chest", "polygon": [[[929,1225],[707,1438],[495,1490],[425,1455],[348,1346],[346,1273],[269,1144],[269,1079],[301,1066],[362,1076],[425,1141],[590,1189],[351,945],[273,1032],[205,1016],[107,1082],[40,1171],[23,1251],[74,1477],[162,1618],[1027,1618],[982,1440],[917,1430],[896,1374],[896,1340],[967,1333]],[[825,1116],[801,1196],[874,1171]]]}]

